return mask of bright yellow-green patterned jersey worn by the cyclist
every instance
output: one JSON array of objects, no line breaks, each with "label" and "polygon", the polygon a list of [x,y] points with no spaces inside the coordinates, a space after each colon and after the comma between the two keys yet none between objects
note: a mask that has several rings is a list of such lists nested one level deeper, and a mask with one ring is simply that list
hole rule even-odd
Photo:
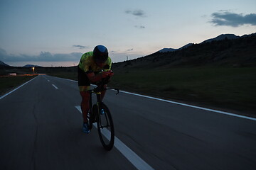
[{"label": "bright yellow-green patterned jersey worn by the cyclist", "polygon": [[102,69],[111,69],[112,61],[110,57],[107,58],[107,61],[105,62],[105,67],[101,68],[97,66],[97,64],[93,60],[93,52],[86,52],[82,55],[81,60],[78,64],[78,67],[82,69],[86,74],[90,72],[101,72]]}]

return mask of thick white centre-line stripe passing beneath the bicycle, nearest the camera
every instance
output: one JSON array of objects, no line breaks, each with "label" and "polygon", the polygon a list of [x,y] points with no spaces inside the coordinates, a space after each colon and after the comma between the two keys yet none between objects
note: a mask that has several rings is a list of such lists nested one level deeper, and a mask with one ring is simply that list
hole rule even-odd
[{"label": "thick white centre-line stripe passing beneath the bicycle, nearest the camera", "polygon": [[[80,106],[75,106],[75,108],[82,113]],[[93,124],[96,128],[96,123]],[[110,139],[110,131],[109,130],[102,130],[102,134],[107,137],[107,139]],[[126,157],[129,162],[131,162],[137,169],[139,170],[154,170],[149,164],[144,162],[144,160],[139,157],[135,152],[132,151],[132,149],[129,149],[127,145],[125,145],[121,140],[119,140],[117,137],[114,137],[114,147],[116,147],[119,152],[121,152],[124,157]]]}]

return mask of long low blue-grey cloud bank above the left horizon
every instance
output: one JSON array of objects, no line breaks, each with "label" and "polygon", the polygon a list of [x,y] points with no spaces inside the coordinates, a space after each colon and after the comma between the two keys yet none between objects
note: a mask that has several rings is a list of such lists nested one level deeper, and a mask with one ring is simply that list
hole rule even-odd
[{"label": "long low blue-grey cloud bank above the left horizon", "polygon": [[12,55],[7,54],[0,48],[0,61],[2,62],[70,62],[79,61],[81,52],[72,52],[70,54],[51,54],[50,52],[41,52],[39,55]]}]

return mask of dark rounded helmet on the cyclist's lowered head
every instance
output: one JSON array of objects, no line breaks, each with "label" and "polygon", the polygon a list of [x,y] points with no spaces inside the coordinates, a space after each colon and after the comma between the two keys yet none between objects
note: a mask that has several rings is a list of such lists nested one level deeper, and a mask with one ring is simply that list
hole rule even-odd
[{"label": "dark rounded helmet on the cyclist's lowered head", "polygon": [[106,62],[108,58],[107,48],[103,45],[97,45],[93,50],[93,59],[95,62]]}]

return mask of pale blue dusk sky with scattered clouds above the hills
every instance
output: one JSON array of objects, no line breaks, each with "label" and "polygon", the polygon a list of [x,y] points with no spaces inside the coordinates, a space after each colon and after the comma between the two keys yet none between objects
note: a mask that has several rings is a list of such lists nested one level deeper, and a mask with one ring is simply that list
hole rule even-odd
[{"label": "pale blue dusk sky with scattered clouds above the hills", "polygon": [[0,0],[11,66],[74,66],[96,45],[123,62],[225,33],[256,33],[255,0]]}]

